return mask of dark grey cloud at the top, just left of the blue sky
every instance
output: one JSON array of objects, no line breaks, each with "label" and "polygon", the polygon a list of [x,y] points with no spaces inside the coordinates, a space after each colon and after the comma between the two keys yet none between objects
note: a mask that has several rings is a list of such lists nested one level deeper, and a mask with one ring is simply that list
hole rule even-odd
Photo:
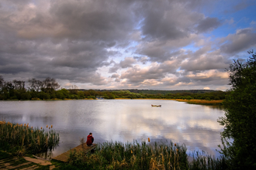
[{"label": "dark grey cloud at the top, just left of the blue sky", "polygon": [[[196,2],[195,2],[196,3]],[[154,1],[143,9],[142,32],[146,39],[182,39],[189,36],[203,15],[188,10],[190,2]],[[179,19],[177,19],[179,18]]]}]

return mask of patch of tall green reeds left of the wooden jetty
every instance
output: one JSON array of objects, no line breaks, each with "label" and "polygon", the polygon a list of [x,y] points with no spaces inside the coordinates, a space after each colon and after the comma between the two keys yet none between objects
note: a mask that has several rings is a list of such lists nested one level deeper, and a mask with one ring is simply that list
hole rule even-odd
[{"label": "patch of tall green reeds left of the wooden jetty", "polygon": [[29,124],[0,121],[0,148],[17,151],[17,155],[53,149],[58,145],[60,138],[52,128],[51,125],[48,129],[47,125],[47,130],[44,130],[44,128],[29,127]]}]

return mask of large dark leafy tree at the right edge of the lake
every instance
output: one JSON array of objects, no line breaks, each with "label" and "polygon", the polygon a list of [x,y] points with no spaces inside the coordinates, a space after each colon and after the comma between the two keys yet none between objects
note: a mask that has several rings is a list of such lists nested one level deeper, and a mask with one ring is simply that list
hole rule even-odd
[{"label": "large dark leafy tree at the right edge of the lake", "polygon": [[230,65],[231,90],[224,100],[225,116],[218,122],[221,133],[221,153],[230,169],[256,169],[256,55],[246,63],[234,60]]}]

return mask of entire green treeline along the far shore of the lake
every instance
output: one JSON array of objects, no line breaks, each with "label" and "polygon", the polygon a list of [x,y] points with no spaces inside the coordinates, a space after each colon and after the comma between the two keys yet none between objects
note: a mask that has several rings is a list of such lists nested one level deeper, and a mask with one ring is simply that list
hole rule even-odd
[{"label": "entire green treeline along the far shore of the lake", "polygon": [[[63,99],[116,99],[116,98],[149,98],[149,99],[200,99],[200,100],[223,100],[226,92],[207,90],[178,90],[180,93],[169,93],[164,90],[78,90],[72,86],[71,89],[60,89],[61,86],[54,78],[47,77],[45,80],[29,79],[5,81],[0,76],[0,100],[63,100]],[[176,90],[174,90],[176,92]],[[147,93],[149,92],[149,93]],[[208,92],[208,93],[206,93]]]}]

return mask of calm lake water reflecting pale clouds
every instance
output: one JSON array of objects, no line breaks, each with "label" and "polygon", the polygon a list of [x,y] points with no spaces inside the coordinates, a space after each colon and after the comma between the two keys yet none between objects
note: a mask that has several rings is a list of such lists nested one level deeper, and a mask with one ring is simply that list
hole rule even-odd
[{"label": "calm lake water reflecting pale clouds", "polygon": [[203,150],[219,156],[223,127],[216,120],[223,114],[214,107],[174,100],[0,101],[0,119],[39,128],[53,124],[61,139],[53,157],[79,145],[89,132],[95,143],[171,140],[185,143],[188,153]]}]

